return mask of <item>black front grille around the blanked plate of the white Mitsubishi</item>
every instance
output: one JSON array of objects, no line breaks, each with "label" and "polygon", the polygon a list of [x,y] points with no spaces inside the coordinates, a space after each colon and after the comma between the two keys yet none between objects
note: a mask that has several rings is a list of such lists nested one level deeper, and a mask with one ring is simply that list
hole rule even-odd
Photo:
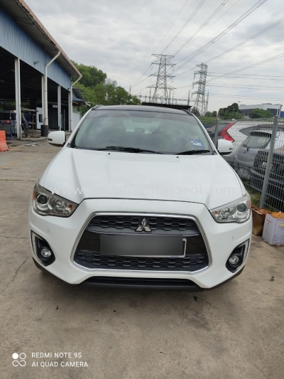
[{"label": "black front grille around the blanked plate of the white Mitsubishi", "polygon": [[[146,220],[152,232],[149,234],[182,235],[187,245],[185,257],[129,257],[100,255],[102,234],[137,234],[136,228],[143,220],[140,216],[96,216],[84,231],[77,245],[75,262],[89,269],[124,269],[147,271],[195,272],[209,264],[207,248],[194,220],[186,218],[148,217]],[[152,229],[153,228],[153,229]],[[168,230],[165,228],[169,228]],[[183,229],[181,229],[183,228]],[[146,231],[139,235],[147,234]],[[173,252],[175,255],[175,252]]]}]

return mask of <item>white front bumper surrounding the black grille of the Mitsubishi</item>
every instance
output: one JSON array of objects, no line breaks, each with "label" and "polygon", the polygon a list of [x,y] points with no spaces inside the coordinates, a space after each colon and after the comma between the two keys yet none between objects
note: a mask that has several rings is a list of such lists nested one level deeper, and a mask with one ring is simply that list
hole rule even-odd
[{"label": "white front bumper surrounding the black grille of the Mitsubishi", "polygon": [[[192,215],[198,220],[209,249],[209,267],[200,272],[136,271],[126,269],[86,269],[75,264],[73,256],[80,236],[89,218],[96,212],[155,213],[167,215]],[[28,212],[30,233],[43,237],[55,254],[55,262],[45,269],[70,284],[80,284],[92,277],[187,279],[202,289],[212,287],[234,277],[237,272],[226,269],[226,260],[234,248],[251,238],[252,222],[242,224],[216,223],[207,208],[198,203],[176,201],[137,201],[129,199],[87,199],[82,201],[70,218],[41,216],[32,205]],[[247,259],[246,255],[246,259]],[[38,257],[33,258],[42,266]]]}]

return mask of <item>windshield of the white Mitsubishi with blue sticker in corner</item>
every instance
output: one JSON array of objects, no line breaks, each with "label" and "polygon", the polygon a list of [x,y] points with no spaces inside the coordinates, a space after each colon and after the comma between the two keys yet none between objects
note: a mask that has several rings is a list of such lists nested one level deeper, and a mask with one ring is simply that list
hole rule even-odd
[{"label": "windshield of the white Mitsubishi with blue sticker in corner", "polygon": [[93,110],[80,125],[71,147],[97,150],[124,147],[149,154],[182,151],[212,154],[204,128],[192,115],[131,110]]}]

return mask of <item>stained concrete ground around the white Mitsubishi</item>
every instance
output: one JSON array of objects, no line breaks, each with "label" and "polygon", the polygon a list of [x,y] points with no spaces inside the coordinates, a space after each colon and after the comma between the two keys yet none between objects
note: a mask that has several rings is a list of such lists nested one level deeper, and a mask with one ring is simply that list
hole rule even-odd
[{"label": "stained concrete ground around the white Mitsubishi", "polygon": [[283,378],[284,247],[253,237],[244,272],[196,294],[70,287],[33,265],[28,199],[57,151],[40,142],[0,153],[1,378]]}]

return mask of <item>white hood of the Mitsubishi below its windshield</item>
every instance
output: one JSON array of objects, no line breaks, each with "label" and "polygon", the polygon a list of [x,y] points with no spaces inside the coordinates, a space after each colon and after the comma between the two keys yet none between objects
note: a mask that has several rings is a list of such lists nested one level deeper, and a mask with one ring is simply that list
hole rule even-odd
[{"label": "white hood of the Mitsubishi below its windshield", "polygon": [[63,148],[40,185],[75,203],[131,198],[202,203],[212,209],[244,194],[222,156],[133,154]]}]

